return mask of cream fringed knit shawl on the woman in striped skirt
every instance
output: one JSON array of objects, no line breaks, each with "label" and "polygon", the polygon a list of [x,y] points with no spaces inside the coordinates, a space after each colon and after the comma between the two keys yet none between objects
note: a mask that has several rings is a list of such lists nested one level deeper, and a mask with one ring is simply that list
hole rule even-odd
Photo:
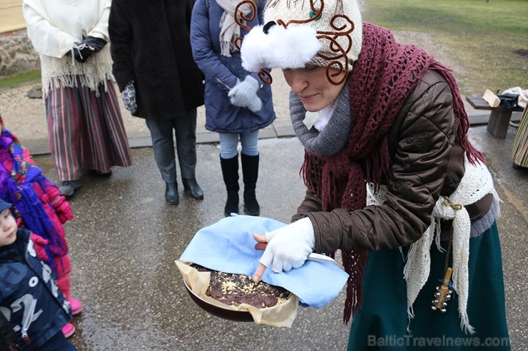
[{"label": "cream fringed knit shawl on the woman in striped skirt", "polygon": [[98,92],[98,85],[113,80],[110,47],[79,63],[69,56],[73,43],[93,36],[108,42],[110,0],[24,0],[22,11],[31,44],[41,59],[42,90],[46,96],[59,83],[81,85]]}]

